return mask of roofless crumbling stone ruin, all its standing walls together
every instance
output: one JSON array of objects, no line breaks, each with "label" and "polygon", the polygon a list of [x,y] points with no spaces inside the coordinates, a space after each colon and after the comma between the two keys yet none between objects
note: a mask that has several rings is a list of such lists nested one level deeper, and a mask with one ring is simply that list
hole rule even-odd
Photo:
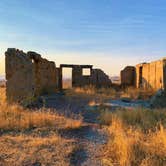
[{"label": "roofless crumbling stone ruin, all its standing walls together", "polygon": [[[96,88],[114,87],[113,83],[101,69],[92,65],[61,64],[56,67],[52,61],[40,54],[29,51],[24,53],[15,48],[5,52],[6,94],[7,100],[22,102],[42,94],[61,91],[63,68],[72,69],[72,87],[94,86]],[[84,70],[89,74],[84,74]],[[166,89],[166,59],[151,63],[127,66],[121,73],[121,87],[143,89]]]}]

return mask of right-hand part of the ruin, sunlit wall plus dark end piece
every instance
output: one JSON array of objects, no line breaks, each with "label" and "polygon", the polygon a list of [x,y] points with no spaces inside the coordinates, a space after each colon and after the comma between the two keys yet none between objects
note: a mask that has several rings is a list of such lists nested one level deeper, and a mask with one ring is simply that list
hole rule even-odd
[{"label": "right-hand part of the ruin, sunlit wall plus dark end piece", "polygon": [[143,89],[166,89],[166,59],[126,67],[121,71],[121,84]]}]

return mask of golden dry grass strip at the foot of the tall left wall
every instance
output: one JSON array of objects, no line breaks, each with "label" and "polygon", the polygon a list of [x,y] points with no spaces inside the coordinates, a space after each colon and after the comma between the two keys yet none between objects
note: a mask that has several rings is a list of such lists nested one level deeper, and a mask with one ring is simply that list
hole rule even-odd
[{"label": "golden dry grass strip at the foot of the tall left wall", "polygon": [[0,130],[26,130],[40,127],[79,128],[82,119],[70,119],[55,110],[29,110],[20,105],[9,105],[5,101],[5,89],[0,89]]}]

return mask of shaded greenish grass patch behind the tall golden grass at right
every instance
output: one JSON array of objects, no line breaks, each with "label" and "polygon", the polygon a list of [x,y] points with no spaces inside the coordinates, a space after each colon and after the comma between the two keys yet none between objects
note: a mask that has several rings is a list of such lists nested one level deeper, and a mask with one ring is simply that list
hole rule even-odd
[{"label": "shaded greenish grass patch behind the tall golden grass at right", "polygon": [[125,125],[140,129],[143,132],[149,129],[155,130],[159,124],[166,127],[166,110],[164,109],[117,110],[115,112],[101,111],[99,119],[101,124],[110,125],[114,117],[121,119]]}]

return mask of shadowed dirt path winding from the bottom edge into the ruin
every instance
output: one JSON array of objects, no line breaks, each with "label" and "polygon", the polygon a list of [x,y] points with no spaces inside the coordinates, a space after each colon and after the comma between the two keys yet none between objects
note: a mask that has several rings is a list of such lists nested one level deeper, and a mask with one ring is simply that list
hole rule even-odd
[{"label": "shadowed dirt path winding from the bottom edge into the ruin", "polygon": [[[97,116],[86,112],[85,106],[89,99],[66,98],[65,96],[45,97],[45,106],[55,108],[66,116],[83,116],[83,126],[78,129],[59,131],[64,138],[76,140],[76,148],[71,153],[70,164],[72,166],[101,166],[101,149],[107,142],[106,132],[96,123]],[[90,122],[90,123],[89,123]]]}]

